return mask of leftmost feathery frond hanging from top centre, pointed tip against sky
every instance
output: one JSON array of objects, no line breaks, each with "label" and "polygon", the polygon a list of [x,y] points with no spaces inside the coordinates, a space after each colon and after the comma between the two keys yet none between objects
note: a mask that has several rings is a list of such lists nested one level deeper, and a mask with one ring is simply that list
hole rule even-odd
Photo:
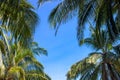
[{"label": "leftmost feathery frond hanging from top centre, pointed tip against sky", "polygon": [[56,29],[56,33],[61,23],[66,23],[75,15],[80,2],[81,0],[64,0],[53,9],[49,15],[49,22]]}]

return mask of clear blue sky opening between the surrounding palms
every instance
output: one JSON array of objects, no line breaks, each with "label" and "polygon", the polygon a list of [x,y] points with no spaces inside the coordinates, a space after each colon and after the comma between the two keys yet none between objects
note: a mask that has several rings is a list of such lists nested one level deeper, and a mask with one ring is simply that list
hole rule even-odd
[{"label": "clear blue sky opening between the surrounding palms", "polygon": [[[36,1],[29,1],[37,5]],[[86,57],[90,53],[90,48],[78,45],[76,18],[61,25],[55,36],[55,30],[48,23],[48,16],[57,4],[58,2],[49,2],[36,9],[40,23],[36,28],[34,39],[40,47],[48,51],[48,56],[37,57],[44,65],[45,72],[52,80],[66,80],[66,73],[71,65]]]}]

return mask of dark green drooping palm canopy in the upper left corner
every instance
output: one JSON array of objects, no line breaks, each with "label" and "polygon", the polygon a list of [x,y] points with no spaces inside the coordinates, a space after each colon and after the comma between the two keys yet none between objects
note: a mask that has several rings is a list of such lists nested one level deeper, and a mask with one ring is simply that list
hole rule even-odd
[{"label": "dark green drooping palm canopy in the upper left corner", "polygon": [[1,0],[0,11],[0,28],[11,33],[15,42],[19,39],[22,45],[27,45],[38,22],[34,7],[26,0]]}]

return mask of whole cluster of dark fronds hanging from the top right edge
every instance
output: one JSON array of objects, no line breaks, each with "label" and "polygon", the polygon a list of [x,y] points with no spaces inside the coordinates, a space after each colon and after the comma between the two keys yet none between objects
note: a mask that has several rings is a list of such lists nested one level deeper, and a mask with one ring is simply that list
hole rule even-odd
[{"label": "whole cluster of dark fronds hanging from the top right edge", "polygon": [[76,14],[78,39],[83,39],[86,24],[98,27],[98,29],[106,27],[113,40],[116,35],[119,35],[120,26],[116,24],[120,20],[119,0],[63,0],[51,12],[49,22],[57,32],[62,23],[66,23]]}]

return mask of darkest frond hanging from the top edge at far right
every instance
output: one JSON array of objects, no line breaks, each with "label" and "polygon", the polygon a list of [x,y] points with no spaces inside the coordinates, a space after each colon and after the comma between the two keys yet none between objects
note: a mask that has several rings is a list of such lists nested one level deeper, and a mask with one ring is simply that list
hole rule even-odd
[{"label": "darkest frond hanging from the top edge at far right", "polygon": [[114,5],[118,5],[118,3],[114,3],[114,1],[112,2],[110,0],[101,1],[102,2],[98,7],[98,12],[96,15],[96,27],[100,29],[105,25],[104,27],[106,27],[106,30],[108,30],[111,39],[114,41],[114,39],[118,37],[119,33],[119,27],[116,26],[114,19],[114,15],[117,14],[116,11],[118,10],[118,8],[114,8]]}]

